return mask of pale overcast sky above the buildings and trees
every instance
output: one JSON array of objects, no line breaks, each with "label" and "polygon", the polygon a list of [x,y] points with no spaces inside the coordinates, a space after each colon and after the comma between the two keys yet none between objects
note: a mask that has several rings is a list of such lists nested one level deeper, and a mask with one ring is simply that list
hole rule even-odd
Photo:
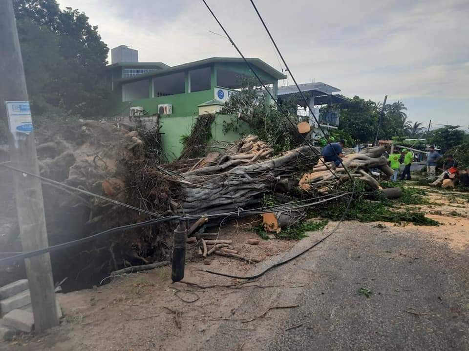
[{"label": "pale overcast sky above the buildings and trees", "polygon": [[[86,13],[109,48],[176,65],[237,57],[198,0],[58,0]],[[281,69],[249,0],[207,0],[243,54]],[[469,125],[469,1],[256,0],[300,83],[402,100],[412,121]],[[110,58],[109,58],[110,59]],[[289,79],[289,84],[293,83]],[[280,84],[283,84],[280,82]]]}]

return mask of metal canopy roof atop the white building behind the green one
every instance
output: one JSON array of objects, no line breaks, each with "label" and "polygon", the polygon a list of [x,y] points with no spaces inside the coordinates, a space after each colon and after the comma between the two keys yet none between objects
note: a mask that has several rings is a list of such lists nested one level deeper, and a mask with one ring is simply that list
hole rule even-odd
[{"label": "metal canopy roof atop the white building behind the green one", "polygon": [[[298,84],[298,86],[303,93],[307,93],[309,96],[314,97],[315,105],[343,104],[349,102],[348,99],[339,95],[332,95],[333,93],[338,93],[341,90],[325,83],[306,83]],[[298,96],[298,105],[306,107],[304,100],[299,96],[296,85],[279,86],[277,96],[279,99]]]}]

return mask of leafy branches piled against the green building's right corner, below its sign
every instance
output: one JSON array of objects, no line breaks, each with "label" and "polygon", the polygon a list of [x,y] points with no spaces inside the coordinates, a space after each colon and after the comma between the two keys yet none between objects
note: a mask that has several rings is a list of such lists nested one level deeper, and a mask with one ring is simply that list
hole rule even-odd
[{"label": "leafy branches piled against the green building's right corner, below its sign", "polygon": [[[277,111],[275,105],[269,103],[267,94],[262,94],[256,81],[253,79],[243,79],[243,88],[236,94],[232,94],[230,99],[221,109],[221,114],[236,114],[250,125],[250,133],[259,137],[260,140],[271,145],[276,152],[282,152],[293,149],[294,136],[298,135],[296,125],[296,105],[284,103],[283,110],[289,114],[284,116]],[[293,122],[290,123],[290,121]],[[228,131],[237,131],[237,120],[232,120],[224,124],[224,133]]]}]

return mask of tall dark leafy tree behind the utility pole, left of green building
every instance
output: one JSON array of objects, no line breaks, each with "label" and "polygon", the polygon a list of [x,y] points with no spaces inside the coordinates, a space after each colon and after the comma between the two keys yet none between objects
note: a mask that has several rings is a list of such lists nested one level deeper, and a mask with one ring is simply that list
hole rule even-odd
[{"label": "tall dark leafy tree behind the utility pole, left of green building", "polygon": [[102,116],[107,45],[78,10],[56,0],[14,0],[23,65],[34,115]]}]

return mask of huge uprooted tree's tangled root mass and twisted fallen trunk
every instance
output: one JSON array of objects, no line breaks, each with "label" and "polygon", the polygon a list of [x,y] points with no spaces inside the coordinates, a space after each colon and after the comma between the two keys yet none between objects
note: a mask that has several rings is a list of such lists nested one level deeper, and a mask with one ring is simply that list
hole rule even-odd
[{"label": "huge uprooted tree's tangled root mass and twisted fallen trunk", "polygon": [[[206,132],[212,121],[212,115],[199,117],[193,132],[197,134],[201,129]],[[192,153],[192,146],[206,141],[206,136],[202,140],[192,137],[192,133],[183,157],[160,164],[161,150],[151,152],[160,144],[159,138],[156,141],[150,138],[153,141],[147,147],[149,138],[142,131],[96,121],[54,128],[50,131],[48,126],[47,132],[38,132],[43,176],[159,215],[236,212],[256,207],[263,194],[290,196],[295,189],[300,197],[314,197],[333,189],[347,177],[341,167],[332,174],[318,164],[319,149],[300,146],[274,156],[272,145],[256,136],[231,144],[223,153],[204,147],[207,151],[204,157],[188,158],[198,155]],[[376,188],[379,185],[368,172],[369,168],[378,167],[389,173],[383,151],[371,148],[347,155],[344,164],[352,176]],[[304,172],[308,173],[302,176]],[[94,197],[59,192],[46,185],[43,189],[52,245],[149,217]],[[96,284],[111,271],[170,259],[173,229],[172,224],[140,228],[102,237],[66,254],[54,254],[56,280],[71,275],[68,281],[83,279],[88,285]],[[221,249],[224,254],[233,254]]]}]

